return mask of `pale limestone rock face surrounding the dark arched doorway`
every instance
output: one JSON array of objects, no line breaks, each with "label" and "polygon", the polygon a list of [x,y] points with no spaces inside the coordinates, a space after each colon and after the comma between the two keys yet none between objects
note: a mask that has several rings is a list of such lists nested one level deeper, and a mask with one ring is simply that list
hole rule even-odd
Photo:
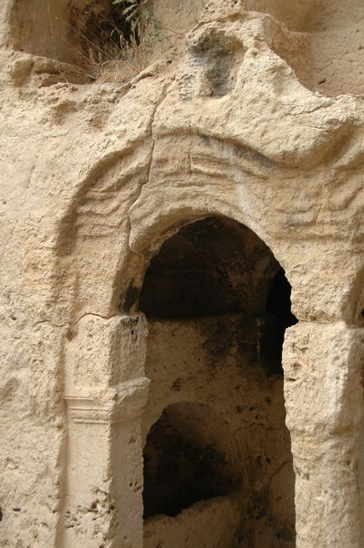
[{"label": "pale limestone rock face surrounding the dark arched doorway", "polygon": [[[292,287],[280,394],[296,546],[361,547],[362,3],[155,0],[165,36],[111,82],[75,54],[89,27],[78,16],[74,31],[70,7],[108,8],[0,5],[0,544],[143,546],[158,400],[140,289],[163,242],[225,216]],[[200,527],[220,516],[217,547],[239,504],[183,512]],[[183,529],[183,512],[154,521],[144,546]]]}]

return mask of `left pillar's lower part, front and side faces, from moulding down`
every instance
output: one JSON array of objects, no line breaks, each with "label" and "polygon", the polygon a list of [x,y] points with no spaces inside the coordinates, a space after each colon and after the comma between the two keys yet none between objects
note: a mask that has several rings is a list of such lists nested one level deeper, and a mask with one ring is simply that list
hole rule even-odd
[{"label": "left pillar's lower part, front and side faces, from moulding down", "polygon": [[140,424],[149,380],[122,383],[115,399],[68,396],[64,546],[142,548]]}]

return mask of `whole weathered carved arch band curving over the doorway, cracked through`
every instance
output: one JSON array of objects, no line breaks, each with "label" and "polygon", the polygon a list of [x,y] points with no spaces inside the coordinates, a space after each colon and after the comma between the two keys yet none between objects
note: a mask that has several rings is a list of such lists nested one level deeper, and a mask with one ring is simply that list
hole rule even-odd
[{"label": "whole weathered carved arch band curving over the doorway, cracked through", "polygon": [[[253,216],[237,188],[246,177],[264,184],[272,170],[282,169],[249,147],[200,134],[166,135],[155,144],[150,139],[133,142],[99,160],[69,198],[60,222],[55,269],[59,310],[73,320],[91,305],[102,316],[120,306],[128,311],[146,262],[161,241],[203,216],[232,217],[272,247],[269,227],[261,223],[267,206],[249,190],[257,212]],[[216,194],[221,181],[225,188]],[[279,249],[274,253],[286,268]]]}]

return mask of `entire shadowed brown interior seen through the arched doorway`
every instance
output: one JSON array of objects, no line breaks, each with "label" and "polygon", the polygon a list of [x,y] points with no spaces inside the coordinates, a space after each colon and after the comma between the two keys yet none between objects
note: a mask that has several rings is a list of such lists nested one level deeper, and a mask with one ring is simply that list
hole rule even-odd
[{"label": "entire shadowed brown interior seen through the arched doorway", "polygon": [[295,546],[289,295],[264,242],[223,216],[182,227],[151,259],[144,548]]}]

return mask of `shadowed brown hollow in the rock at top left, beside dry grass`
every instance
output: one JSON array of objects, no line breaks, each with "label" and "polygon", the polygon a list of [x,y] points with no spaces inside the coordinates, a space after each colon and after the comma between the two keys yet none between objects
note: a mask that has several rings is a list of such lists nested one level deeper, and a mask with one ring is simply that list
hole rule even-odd
[{"label": "shadowed brown hollow in the rock at top left, beside dry grass", "polygon": [[[120,59],[131,26],[111,0],[38,0],[15,3],[10,16],[15,49],[87,68]],[[138,41],[137,34],[134,37]]]}]

